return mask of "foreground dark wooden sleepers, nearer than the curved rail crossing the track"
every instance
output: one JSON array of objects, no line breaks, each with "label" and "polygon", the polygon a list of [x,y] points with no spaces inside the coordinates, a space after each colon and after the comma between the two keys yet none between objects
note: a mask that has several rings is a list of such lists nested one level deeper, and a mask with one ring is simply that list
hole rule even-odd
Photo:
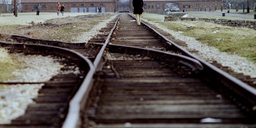
[{"label": "foreground dark wooden sleepers, nearer than the curved rail crossing the track", "polygon": [[223,94],[220,83],[202,79],[216,76],[182,77],[150,57],[107,55],[96,102],[85,112],[89,126],[93,121],[95,128],[240,128],[255,122]]}]

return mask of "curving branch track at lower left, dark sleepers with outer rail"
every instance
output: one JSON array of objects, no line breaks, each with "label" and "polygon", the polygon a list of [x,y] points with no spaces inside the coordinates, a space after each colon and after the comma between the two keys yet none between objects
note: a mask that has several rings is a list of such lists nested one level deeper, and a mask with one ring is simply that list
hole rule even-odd
[{"label": "curving branch track at lower left, dark sleepers with outer rail", "polygon": [[[24,54],[41,54],[43,56],[55,56],[62,59],[62,64],[66,65],[62,72],[70,72],[79,68],[79,74],[60,73],[47,82],[8,82],[1,84],[44,84],[38,92],[38,97],[34,98],[34,103],[30,104],[23,116],[12,120],[11,124],[0,125],[0,128],[60,128],[68,113],[69,102],[80,88],[86,74],[93,68],[90,60],[63,48],[53,46],[42,46],[34,44],[6,44],[2,47],[12,52],[23,52]],[[72,66],[74,68],[70,69]],[[32,86],[32,85],[31,85]]]}]

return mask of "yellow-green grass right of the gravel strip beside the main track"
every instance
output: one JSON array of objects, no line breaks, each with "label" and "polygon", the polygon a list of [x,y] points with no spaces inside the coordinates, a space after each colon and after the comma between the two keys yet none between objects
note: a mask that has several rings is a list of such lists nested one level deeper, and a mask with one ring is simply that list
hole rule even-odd
[{"label": "yellow-green grass right of the gravel strip beside the main track", "polygon": [[[155,17],[156,18],[152,18]],[[194,37],[203,44],[218,48],[220,52],[237,54],[256,63],[256,31],[198,21],[162,22],[164,15],[142,14],[142,18],[156,22],[184,36]],[[217,33],[213,33],[213,32]]]}]

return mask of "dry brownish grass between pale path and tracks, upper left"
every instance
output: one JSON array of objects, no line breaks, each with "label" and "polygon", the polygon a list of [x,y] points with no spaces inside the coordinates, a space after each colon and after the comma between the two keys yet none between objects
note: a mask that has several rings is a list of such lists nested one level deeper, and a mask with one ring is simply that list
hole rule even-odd
[{"label": "dry brownish grass between pale path and tracks, upper left", "polygon": [[[74,16],[47,20],[47,23],[66,24],[54,28],[48,26],[38,26],[33,28],[16,29],[23,27],[21,25],[0,26],[0,34],[26,35],[36,39],[58,40],[63,42],[77,42],[76,37],[83,32],[88,32],[100,22],[109,19],[115,14],[90,14],[84,16]],[[1,38],[1,37],[0,37]],[[3,37],[2,37],[3,38]],[[5,38],[5,37],[4,37]]]}]

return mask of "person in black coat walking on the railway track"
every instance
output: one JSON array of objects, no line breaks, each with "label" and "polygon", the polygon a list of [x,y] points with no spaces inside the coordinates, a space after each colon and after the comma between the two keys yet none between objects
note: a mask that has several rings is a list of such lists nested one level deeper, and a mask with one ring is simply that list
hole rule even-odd
[{"label": "person in black coat walking on the railway track", "polygon": [[135,16],[136,16],[137,26],[140,26],[141,14],[142,14],[142,12],[144,12],[143,0],[132,0],[132,6],[134,8],[133,14],[135,14]]}]

